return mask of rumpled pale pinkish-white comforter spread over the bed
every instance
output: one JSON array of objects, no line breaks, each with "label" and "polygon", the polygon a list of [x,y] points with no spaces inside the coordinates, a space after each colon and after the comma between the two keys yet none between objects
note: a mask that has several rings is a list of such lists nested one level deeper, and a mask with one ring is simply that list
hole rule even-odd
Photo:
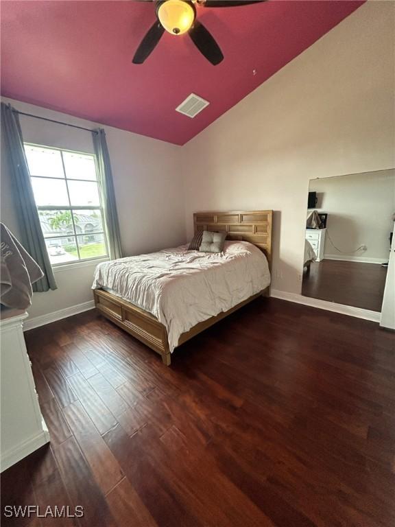
[{"label": "rumpled pale pinkish-white comforter spread over the bed", "polygon": [[248,242],[225,242],[223,253],[188,246],[99,264],[93,289],[106,289],[167,328],[170,351],[184,331],[267,288],[265,255]]}]

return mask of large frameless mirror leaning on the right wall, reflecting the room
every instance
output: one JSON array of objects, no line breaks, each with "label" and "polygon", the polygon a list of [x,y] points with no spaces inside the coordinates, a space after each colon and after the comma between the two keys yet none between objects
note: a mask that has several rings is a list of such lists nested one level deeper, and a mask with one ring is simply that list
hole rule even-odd
[{"label": "large frameless mirror leaning on the right wall, reflecting the room", "polygon": [[310,181],[302,294],[380,312],[395,169]]}]

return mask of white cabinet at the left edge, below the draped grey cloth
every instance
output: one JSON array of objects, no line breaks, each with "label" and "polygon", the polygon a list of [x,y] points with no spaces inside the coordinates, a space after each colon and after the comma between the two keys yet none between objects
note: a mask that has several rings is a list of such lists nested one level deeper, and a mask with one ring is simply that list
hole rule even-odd
[{"label": "white cabinet at the left edge, below the draped grey cloth", "polygon": [[25,312],[2,312],[1,471],[49,441],[23,338]]}]

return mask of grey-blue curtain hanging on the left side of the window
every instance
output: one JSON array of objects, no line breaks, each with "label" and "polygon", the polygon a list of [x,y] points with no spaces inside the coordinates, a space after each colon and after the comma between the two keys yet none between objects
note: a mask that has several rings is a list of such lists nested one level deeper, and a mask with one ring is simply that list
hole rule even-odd
[{"label": "grey-blue curtain hanging on the left side of the window", "polygon": [[18,113],[10,104],[3,102],[1,103],[1,133],[10,165],[12,193],[17,209],[16,215],[21,227],[21,243],[44,272],[43,278],[32,285],[33,291],[55,290],[57,289],[56,281],[34,201]]}]

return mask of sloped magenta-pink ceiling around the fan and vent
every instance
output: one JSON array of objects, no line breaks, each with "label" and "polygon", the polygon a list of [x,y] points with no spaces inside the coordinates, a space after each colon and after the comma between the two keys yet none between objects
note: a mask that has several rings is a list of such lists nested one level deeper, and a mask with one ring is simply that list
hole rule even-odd
[{"label": "sloped magenta-pink ceiling around the fan and vent", "polygon": [[[1,93],[184,144],[362,3],[197,7],[225,56],[213,66],[187,35],[167,33],[143,65],[132,64],[153,3],[2,1]],[[191,92],[211,103],[195,119],[174,110]]]}]

